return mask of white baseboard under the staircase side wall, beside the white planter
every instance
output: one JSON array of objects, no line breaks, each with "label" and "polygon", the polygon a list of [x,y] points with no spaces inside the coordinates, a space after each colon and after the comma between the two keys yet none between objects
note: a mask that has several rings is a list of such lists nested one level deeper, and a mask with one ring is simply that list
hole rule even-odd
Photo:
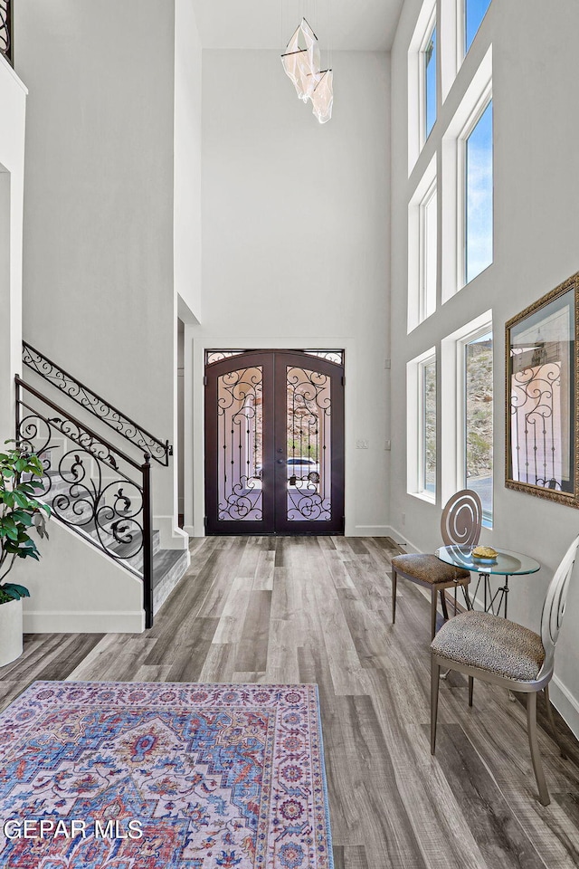
[{"label": "white baseboard under the staircase side wall, beside the white planter", "polygon": [[24,613],[24,634],[142,634],[145,613]]}]

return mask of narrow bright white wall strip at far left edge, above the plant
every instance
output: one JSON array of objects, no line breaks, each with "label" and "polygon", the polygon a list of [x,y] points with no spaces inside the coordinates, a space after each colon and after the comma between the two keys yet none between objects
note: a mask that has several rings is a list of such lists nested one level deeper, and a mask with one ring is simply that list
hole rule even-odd
[{"label": "narrow bright white wall strip at far left edge, above the plant", "polygon": [[26,89],[0,54],[0,446],[14,437],[14,374],[22,342]]}]

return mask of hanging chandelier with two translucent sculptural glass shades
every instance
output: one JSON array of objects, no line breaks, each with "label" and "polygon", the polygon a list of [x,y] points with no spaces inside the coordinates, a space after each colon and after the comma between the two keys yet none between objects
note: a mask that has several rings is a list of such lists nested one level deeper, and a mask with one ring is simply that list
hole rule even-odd
[{"label": "hanging chandelier with two translucent sculptural glass shades", "polygon": [[332,117],[334,104],[334,73],[320,70],[318,37],[305,18],[291,36],[281,62],[293,81],[299,100],[311,100],[312,111],[320,124]]}]

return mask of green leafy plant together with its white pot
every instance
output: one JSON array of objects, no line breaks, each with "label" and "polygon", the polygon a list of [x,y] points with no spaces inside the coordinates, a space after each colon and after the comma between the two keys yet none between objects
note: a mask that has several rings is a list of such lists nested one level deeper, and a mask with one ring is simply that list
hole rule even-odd
[{"label": "green leafy plant together with its white pot", "polygon": [[[14,443],[6,441],[6,444]],[[16,559],[35,559],[39,552],[30,536],[35,528],[48,538],[45,522],[50,507],[34,498],[43,465],[39,457],[17,444],[0,453],[0,666],[22,654],[22,598],[30,597],[24,586],[6,582]]]}]

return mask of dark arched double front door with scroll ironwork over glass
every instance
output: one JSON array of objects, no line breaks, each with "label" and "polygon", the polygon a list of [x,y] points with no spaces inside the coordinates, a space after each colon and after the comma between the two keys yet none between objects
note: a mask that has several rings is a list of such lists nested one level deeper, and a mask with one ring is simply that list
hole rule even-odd
[{"label": "dark arched double front door with scroll ironwork over glass", "polygon": [[208,351],[208,534],[344,533],[342,351]]}]

